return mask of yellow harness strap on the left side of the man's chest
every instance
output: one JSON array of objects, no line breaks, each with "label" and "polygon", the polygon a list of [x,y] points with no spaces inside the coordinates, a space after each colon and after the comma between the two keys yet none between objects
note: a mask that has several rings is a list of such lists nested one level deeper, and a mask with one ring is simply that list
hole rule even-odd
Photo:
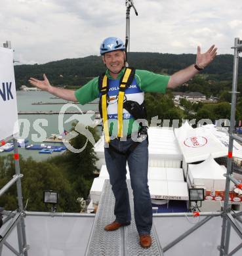
[{"label": "yellow harness strap on the left side of the man's chest", "polygon": [[102,122],[104,125],[104,137],[107,143],[110,142],[110,133],[108,131],[108,110],[107,110],[107,86],[108,86],[108,77],[104,75],[104,79],[102,80],[102,90],[101,92],[106,91],[102,95]]}]

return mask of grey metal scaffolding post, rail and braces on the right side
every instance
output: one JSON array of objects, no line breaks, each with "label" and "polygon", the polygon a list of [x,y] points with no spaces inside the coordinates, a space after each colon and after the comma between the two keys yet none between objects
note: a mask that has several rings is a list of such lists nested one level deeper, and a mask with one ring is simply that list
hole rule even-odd
[{"label": "grey metal scaffolding post, rail and braces on the right side", "polygon": [[238,213],[232,213],[231,205],[229,203],[230,197],[230,182],[232,181],[237,188],[242,190],[242,184],[237,181],[233,177],[233,169],[232,169],[232,161],[233,161],[233,140],[239,140],[242,142],[242,138],[235,135],[235,112],[236,112],[236,98],[237,94],[237,77],[238,77],[238,66],[239,66],[239,53],[242,51],[242,41],[235,37],[234,46],[234,56],[233,56],[233,83],[232,83],[232,104],[231,104],[231,114],[230,114],[230,129],[229,129],[229,147],[228,147],[228,160],[227,160],[227,173],[224,175],[226,177],[226,188],[225,188],[225,198],[224,198],[224,208],[222,212],[210,212],[210,213],[157,213],[154,214],[153,217],[181,217],[181,216],[206,216],[205,219],[199,221],[199,223],[195,224],[192,228],[184,232],[182,235],[178,236],[175,240],[171,243],[166,245],[163,248],[163,252],[167,251],[178,242],[182,241],[188,235],[192,234],[193,231],[197,230],[200,226],[207,223],[212,217],[214,216],[221,216],[222,217],[222,232],[221,232],[221,241],[220,245],[218,246],[218,251],[220,251],[220,256],[232,256],[234,253],[239,251],[242,248],[241,244],[237,245],[232,251],[229,252],[230,248],[230,234],[231,234],[231,227],[239,238],[242,240],[242,211]]}]

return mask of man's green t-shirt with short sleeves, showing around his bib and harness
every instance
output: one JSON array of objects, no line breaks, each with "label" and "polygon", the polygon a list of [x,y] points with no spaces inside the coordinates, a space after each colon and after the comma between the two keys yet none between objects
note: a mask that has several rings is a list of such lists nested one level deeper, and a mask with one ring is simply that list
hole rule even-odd
[{"label": "man's green t-shirt with short sleeves, showing around his bib and harness", "polygon": [[[119,73],[116,80],[121,78],[124,71],[125,69]],[[108,75],[109,79],[113,79],[108,70],[106,71],[106,75]],[[140,90],[145,93],[165,93],[170,76],[155,74],[147,70],[136,70],[134,78],[136,79],[136,83],[138,87],[140,87]],[[75,91],[75,97],[82,105],[99,98],[98,77],[95,77],[87,84],[83,85],[83,87],[77,89],[77,91]],[[111,123],[113,124],[111,125],[110,135],[115,136],[117,135],[117,119],[111,120],[112,121],[109,120],[109,127]],[[138,123],[135,123],[133,118],[123,119],[123,135],[130,135],[131,132],[134,131],[138,131]]]}]

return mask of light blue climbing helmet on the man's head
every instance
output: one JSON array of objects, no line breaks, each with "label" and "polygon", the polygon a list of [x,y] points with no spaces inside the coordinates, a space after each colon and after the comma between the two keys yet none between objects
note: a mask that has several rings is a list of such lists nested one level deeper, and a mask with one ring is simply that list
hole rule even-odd
[{"label": "light blue climbing helmet on the man's head", "polygon": [[117,50],[125,50],[125,44],[119,37],[107,37],[100,45],[101,55]]}]

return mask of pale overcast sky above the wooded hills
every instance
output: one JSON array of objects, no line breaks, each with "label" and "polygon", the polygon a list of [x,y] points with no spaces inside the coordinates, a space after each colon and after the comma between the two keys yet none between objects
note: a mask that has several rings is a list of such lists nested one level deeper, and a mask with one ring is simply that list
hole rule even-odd
[{"label": "pale overcast sky above the wooded hills", "polygon": [[[241,0],[134,0],[130,51],[233,54],[242,39]],[[0,45],[20,64],[99,55],[108,36],[125,40],[125,0],[0,0]]]}]

